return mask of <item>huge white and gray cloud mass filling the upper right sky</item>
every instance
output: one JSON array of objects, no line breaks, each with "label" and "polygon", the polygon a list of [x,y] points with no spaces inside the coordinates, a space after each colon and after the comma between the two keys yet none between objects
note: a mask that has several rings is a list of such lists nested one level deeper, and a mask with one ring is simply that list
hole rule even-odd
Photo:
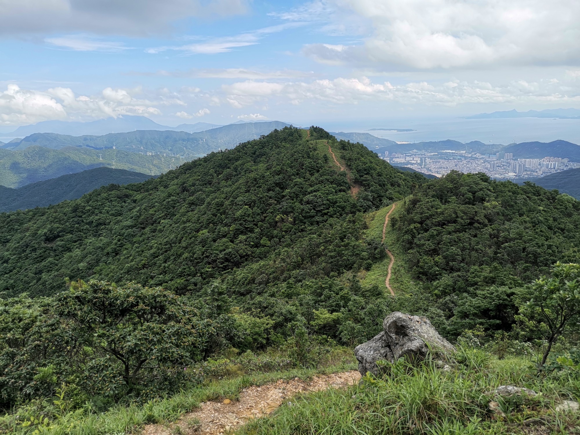
[{"label": "huge white and gray cloud mass filling the upper right sky", "polygon": [[[362,44],[305,46],[306,55],[324,63],[428,69],[571,65],[580,59],[580,3],[574,0],[328,0],[309,6],[316,11],[319,3],[350,11],[372,29]],[[346,15],[329,16],[340,24]]]}]

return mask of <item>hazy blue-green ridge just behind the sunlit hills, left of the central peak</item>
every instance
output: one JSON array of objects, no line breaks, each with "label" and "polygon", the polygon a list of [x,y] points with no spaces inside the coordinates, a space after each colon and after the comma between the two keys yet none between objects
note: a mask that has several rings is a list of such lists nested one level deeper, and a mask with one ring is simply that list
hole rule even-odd
[{"label": "hazy blue-green ridge just behind the sunlit hills, left of the central peak", "polygon": [[131,153],[161,153],[181,157],[201,157],[220,148],[233,148],[240,142],[258,139],[275,128],[287,124],[278,121],[230,124],[198,133],[137,130],[128,133],[111,133],[103,136],[66,136],[56,133],[35,133],[5,149],[24,150],[42,146],[59,150],[64,147],[84,147],[93,150],[124,150]]}]

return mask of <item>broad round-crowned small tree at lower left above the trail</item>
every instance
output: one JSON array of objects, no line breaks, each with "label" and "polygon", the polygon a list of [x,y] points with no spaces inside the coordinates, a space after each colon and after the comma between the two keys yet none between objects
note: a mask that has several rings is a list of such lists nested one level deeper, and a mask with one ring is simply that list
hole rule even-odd
[{"label": "broad round-crowned small tree at lower left above the trail", "polygon": [[[79,345],[93,350],[93,364],[102,356],[104,365],[95,374],[100,383],[122,379],[129,392],[200,359],[213,332],[211,323],[175,293],[133,283],[73,282],[57,296],[56,311],[71,321]],[[118,370],[106,369],[109,358]],[[107,386],[110,393],[113,383]]]}]

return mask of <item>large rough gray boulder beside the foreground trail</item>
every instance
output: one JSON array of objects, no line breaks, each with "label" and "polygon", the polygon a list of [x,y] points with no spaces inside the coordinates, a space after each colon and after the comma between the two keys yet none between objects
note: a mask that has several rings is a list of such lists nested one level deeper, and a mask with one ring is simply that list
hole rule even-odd
[{"label": "large rough gray boulder beside the foreground trail", "polygon": [[383,321],[383,331],[354,349],[358,371],[362,376],[371,372],[378,374],[376,361],[394,362],[406,358],[411,362],[424,360],[429,351],[434,357],[443,358],[455,348],[433,328],[426,317],[409,314],[389,314]]}]

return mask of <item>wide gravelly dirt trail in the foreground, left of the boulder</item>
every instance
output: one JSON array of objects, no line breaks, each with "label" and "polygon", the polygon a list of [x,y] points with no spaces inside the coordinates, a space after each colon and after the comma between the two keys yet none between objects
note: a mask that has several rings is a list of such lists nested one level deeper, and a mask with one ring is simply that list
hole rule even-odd
[{"label": "wide gravelly dirt trail in the foreground, left of the boulder", "polygon": [[[221,402],[205,402],[200,408],[189,412],[170,426],[147,425],[142,435],[171,435],[175,433],[202,433],[207,435],[219,435],[233,432],[238,426],[253,418],[259,418],[270,414],[289,397],[299,393],[321,391],[328,388],[344,388],[354,385],[360,380],[361,375],[357,371],[334,373],[331,375],[314,376],[310,382],[299,378],[292,380],[278,380],[277,382],[252,386],[242,390],[240,401],[228,399]],[[188,424],[198,419],[198,424]],[[180,429],[177,429],[177,426]]]}]

